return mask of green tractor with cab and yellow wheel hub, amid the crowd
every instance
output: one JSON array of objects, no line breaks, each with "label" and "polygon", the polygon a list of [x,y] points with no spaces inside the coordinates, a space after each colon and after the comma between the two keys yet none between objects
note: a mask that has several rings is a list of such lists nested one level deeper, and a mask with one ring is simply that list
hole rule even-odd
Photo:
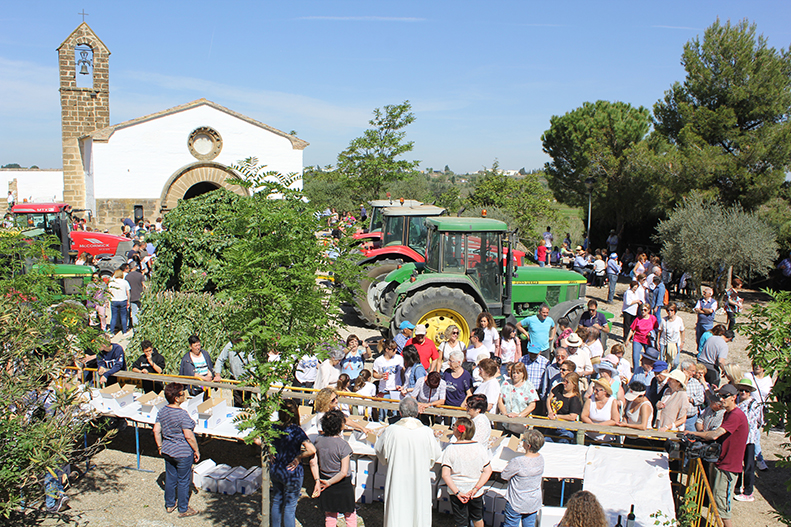
[{"label": "green tractor with cab and yellow wheel hub, amid the crowd", "polygon": [[[585,310],[585,278],[573,271],[514,266],[515,233],[486,218],[426,218],[426,262],[407,263],[385,278],[377,300],[377,322],[395,335],[402,321],[425,324],[439,342],[450,324],[469,342],[475,320],[490,312],[498,325],[550,306],[554,320],[576,327]],[[503,249],[506,249],[503,257]],[[437,337],[435,337],[435,335]]]}]

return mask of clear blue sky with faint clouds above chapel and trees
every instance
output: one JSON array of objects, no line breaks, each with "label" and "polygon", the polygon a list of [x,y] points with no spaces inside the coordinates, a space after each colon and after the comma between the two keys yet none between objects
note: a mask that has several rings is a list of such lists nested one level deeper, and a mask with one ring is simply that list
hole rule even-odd
[{"label": "clear blue sky with faint clouds above chapel and trees", "polygon": [[718,16],[791,43],[787,1],[6,2],[0,165],[61,166],[55,48],[83,8],[112,52],[112,123],[205,97],[296,130],[305,165],[333,164],[373,108],[408,99],[421,168],[540,168],[552,115],[650,109]]}]

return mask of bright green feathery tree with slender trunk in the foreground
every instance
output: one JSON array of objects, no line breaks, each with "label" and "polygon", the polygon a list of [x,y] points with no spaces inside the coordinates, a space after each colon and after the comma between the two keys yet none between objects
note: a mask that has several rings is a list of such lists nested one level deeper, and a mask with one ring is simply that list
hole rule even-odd
[{"label": "bright green feathery tree with slender trunk in the foreground", "polygon": [[[272,415],[281,403],[282,387],[293,377],[299,358],[324,356],[337,342],[342,325],[340,304],[350,300],[347,288],[326,288],[317,274],[332,269],[336,282],[356,283],[357,256],[350,246],[337,247],[330,259],[314,232],[318,221],[302,194],[279,182],[262,178],[254,165],[238,167],[241,184],[255,193],[239,202],[236,242],[228,248],[220,278],[222,296],[232,300],[229,326],[241,337],[239,352],[252,352],[249,384],[261,390],[252,401],[248,441],[259,438],[264,447],[263,488],[269,486],[268,455],[278,432]],[[269,199],[277,195],[280,199]],[[279,355],[270,360],[271,353]],[[279,388],[278,388],[279,386]],[[270,389],[276,391],[270,393]],[[269,493],[262,493],[262,525],[269,525]]]}]

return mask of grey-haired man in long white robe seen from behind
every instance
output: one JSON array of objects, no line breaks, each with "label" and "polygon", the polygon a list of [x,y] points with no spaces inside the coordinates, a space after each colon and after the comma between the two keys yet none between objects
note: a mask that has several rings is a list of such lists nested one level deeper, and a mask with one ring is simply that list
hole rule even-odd
[{"label": "grey-haired man in long white robe seen from behind", "polygon": [[387,464],[384,527],[431,526],[430,471],[442,454],[431,428],[417,419],[415,399],[403,399],[401,419],[376,441],[376,456]]}]

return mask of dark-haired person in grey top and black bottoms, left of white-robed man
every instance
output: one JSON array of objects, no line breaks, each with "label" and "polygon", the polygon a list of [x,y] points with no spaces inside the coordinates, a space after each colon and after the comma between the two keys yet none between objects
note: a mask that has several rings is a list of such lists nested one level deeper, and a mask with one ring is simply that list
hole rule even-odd
[{"label": "dark-haired person in grey top and black bottoms, left of white-robed man", "polygon": [[326,527],[337,525],[338,513],[343,514],[348,527],[357,527],[354,485],[349,475],[352,447],[340,437],[345,420],[340,410],[330,410],[321,418],[324,434],[316,439],[319,480],[313,489],[313,497],[319,498]]}]

